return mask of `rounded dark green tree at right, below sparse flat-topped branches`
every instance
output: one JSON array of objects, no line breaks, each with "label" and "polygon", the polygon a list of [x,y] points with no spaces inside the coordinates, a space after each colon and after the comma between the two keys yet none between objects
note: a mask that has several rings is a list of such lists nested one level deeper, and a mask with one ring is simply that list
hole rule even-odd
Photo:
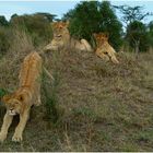
[{"label": "rounded dark green tree at right, below sparse flat-topped branches", "polygon": [[146,26],[140,21],[131,22],[127,27],[127,35],[130,46],[134,48],[136,54],[139,51],[148,51],[150,47]]}]

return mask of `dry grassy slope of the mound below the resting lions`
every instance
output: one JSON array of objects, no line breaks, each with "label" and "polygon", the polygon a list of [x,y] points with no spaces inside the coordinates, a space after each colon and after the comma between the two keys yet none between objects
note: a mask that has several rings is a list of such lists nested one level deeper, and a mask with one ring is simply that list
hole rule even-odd
[{"label": "dry grassy slope of the mound below the resting lions", "polygon": [[[1,87],[16,87],[27,52],[1,59]],[[11,142],[14,122],[0,151],[153,151],[153,57],[136,60],[120,52],[118,59],[115,66],[92,52],[50,54],[47,68],[58,79],[55,94],[62,110],[58,123],[46,119],[45,104],[34,107],[24,141]]]}]

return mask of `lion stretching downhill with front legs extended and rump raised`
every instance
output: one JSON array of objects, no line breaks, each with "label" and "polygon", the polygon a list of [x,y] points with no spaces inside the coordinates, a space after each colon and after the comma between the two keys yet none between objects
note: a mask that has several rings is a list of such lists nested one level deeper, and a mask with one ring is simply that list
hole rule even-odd
[{"label": "lion stretching downhill with front legs extended and rump raised", "polygon": [[22,133],[30,116],[32,105],[40,105],[40,73],[43,60],[36,52],[27,55],[23,61],[20,71],[20,85],[11,95],[3,96],[2,101],[7,106],[7,113],[3,118],[3,125],[0,131],[0,141],[7,139],[8,129],[12,122],[13,116],[20,115],[20,122],[12,137],[12,141],[22,141]]}]

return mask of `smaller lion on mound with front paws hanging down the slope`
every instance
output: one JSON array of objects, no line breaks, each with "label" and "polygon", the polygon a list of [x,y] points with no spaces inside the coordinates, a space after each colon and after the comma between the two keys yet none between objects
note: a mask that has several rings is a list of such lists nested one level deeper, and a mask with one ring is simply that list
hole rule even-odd
[{"label": "smaller lion on mound with front paws hanging down the slope", "polygon": [[119,61],[116,58],[116,51],[115,49],[108,44],[108,35],[104,33],[93,34],[96,40],[96,50],[95,54],[108,61],[109,59],[114,63],[119,63]]}]

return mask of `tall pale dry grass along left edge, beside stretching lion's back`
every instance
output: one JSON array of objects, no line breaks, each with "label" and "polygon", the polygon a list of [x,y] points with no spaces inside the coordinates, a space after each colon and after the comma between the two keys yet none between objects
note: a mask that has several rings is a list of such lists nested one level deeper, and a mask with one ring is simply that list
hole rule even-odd
[{"label": "tall pale dry grass along left edge, beside stretching lion's back", "polygon": [[24,32],[21,33],[16,30],[12,37],[8,54],[0,59],[1,87],[11,91],[17,85],[21,62],[34,49],[31,38]]}]

